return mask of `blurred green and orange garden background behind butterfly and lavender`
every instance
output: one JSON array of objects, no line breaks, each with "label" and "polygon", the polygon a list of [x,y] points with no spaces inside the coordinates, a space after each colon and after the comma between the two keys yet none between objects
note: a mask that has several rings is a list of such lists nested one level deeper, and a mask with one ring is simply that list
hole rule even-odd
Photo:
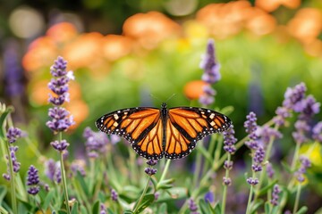
[{"label": "blurred green and orange garden background behind butterfly and lavender", "polygon": [[[208,108],[229,114],[239,140],[247,136],[243,128],[246,115],[254,111],[258,125],[275,117],[287,87],[304,82],[307,94],[319,103],[322,101],[322,3],[319,0],[14,0],[0,3],[0,23],[0,102],[13,106],[15,127],[28,135],[28,140],[20,140],[16,152],[23,183],[30,164],[38,168],[40,177],[48,183],[45,163],[56,158],[50,146],[55,135],[46,123],[50,67],[58,56],[64,57],[67,70],[72,70],[75,77],[69,86],[70,102],[65,103],[75,121],[64,133],[70,143],[68,160],[80,161],[83,166],[90,162],[86,158],[84,129],[97,131],[95,121],[101,115],[127,107],[159,107],[163,102],[169,107],[201,106],[198,98],[204,86],[200,81],[204,70],[199,64],[209,38],[215,40],[221,79],[213,85],[215,103]],[[275,141],[272,155],[275,162],[290,162],[292,158],[289,153],[295,149],[292,138],[295,119],[282,128],[284,137]],[[310,126],[321,119],[318,112]],[[302,144],[301,152],[312,144],[312,141]],[[320,142],[314,146],[309,156],[312,163],[309,178],[300,201],[308,207],[308,213],[315,213],[322,204]],[[115,153],[114,168],[120,171],[117,174],[120,183],[138,179],[128,183],[137,189],[127,195],[128,190],[122,186],[113,182],[109,185],[119,193],[120,200],[130,204],[139,195],[146,177],[143,170],[135,177],[128,176],[129,159],[137,161],[139,169],[143,169],[144,162],[128,147],[125,143],[109,144],[108,150]],[[168,174],[174,178],[171,185],[182,187],[184,191],[180,193],[184,196],[163,199],[169,213],[180,210],[190,196],[192,190],[188,184],[195,182],[190,180],[196,173],[193,170],[198,152],[170,165]],[[240,195],[227,202],[232,212],[245,212],[241,208],[246,207],[249,192],[244,175],[250,169],[249,153],[244,145],[233,155],[235,185],[228,187],[228,195],[229,192]],[[7,160],[3,150],[1,154],[3,174]],[[66,165],[68,168],[69,164]],[[283,174],[285,169],[275,170]],[[221,188],[223,172],[224,169],[217,171],[214,183],[208,184],[207,191],[200,191],[199,198],[210,190],[216,195],[212,203],[220,200],[217,188]],[[200,177],[196,180],[198,183]],[[1,177],[0,185],[9,188],[10,183]],[[106,193],[108,197],[110,194]],[[246,201],[237,199],[245,195]],[[10,190],[0,199],[10,206]],[[106,206],[113,207],[108,202]],[[113,209],[126,210],[121,202],[117,206],[122,208]],[[292,210],[292,205],[286,205],[284,210]]]}]

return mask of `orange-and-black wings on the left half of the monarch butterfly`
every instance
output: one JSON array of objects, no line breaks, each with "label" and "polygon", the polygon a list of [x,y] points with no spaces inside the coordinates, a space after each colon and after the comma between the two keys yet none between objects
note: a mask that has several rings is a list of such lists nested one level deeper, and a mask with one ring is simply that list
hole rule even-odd
[{"label": "orange-and-black wings on the left half of the monarch butterfly", "polygon": [[138,107],[114,111],[97,119],[96,125],[108,135],[123,136],[144,158],[157,160],[164,155],[159,109]]}]

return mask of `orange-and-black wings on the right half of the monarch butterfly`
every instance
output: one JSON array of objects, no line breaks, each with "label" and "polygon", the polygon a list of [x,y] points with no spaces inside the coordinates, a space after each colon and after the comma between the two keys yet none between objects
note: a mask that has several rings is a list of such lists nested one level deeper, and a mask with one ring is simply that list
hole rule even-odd
[{"label": "orange-and-black wings on the right half of the monarch butterfly", "polygon": [[165,158],[187,156],[197,141],[231,126],[224,114],[203,108],[177,107],[169,109],[165,131]]}]

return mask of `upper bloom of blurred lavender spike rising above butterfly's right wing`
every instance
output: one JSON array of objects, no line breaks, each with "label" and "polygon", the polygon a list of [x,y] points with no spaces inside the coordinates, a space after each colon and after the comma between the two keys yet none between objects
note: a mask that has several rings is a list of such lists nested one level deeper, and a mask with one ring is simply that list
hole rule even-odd
[{"label": "upper bloom of blurred lavender spike rising above butterfly's right wing", "polygon": [[212,39],[208,40],[207,53],[202,57],[200,68],[205,70],[204,74],[202,75],[202,80],[205,82],[214,84],[220,80],[220,65],[216,63],[215,45],[214,40]]}]

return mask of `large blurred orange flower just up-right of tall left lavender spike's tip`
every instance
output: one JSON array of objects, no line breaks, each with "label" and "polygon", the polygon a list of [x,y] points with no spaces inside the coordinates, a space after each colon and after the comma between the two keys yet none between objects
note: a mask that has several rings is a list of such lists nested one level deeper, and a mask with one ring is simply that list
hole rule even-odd
[{"label": "large blurred orange flower just up-right of tall left lavender spike's tip", "polygon": [[64,47],[62,55],[72,70],[89,66],[101,57],[102,38],[95,32],[82,34]]}]

